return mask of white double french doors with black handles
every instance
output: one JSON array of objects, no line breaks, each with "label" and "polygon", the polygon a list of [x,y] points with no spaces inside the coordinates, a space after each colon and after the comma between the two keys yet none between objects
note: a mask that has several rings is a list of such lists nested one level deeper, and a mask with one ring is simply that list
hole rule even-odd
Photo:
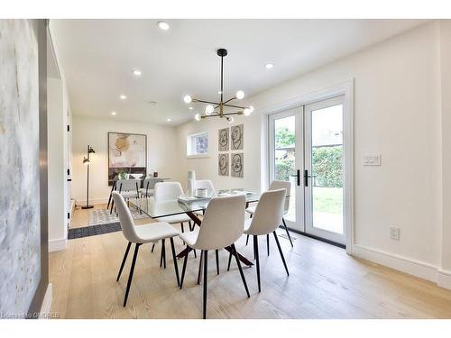
[{"label": "white double french doors with black handles", "polygon": [[270,178],[290,180],[287,225],[345,244],[345,96],[269,118]]}]

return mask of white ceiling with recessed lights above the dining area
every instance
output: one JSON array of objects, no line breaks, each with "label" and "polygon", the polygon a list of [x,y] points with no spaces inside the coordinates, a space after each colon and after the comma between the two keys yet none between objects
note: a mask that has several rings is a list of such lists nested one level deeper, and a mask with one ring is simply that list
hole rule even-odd
[{"label": "white ceiling with recessed lights above the dining area", "polygon": [[229,51],[225,96],[242,89],[249,97],[423,21],[168,20],[166,32],[156,23],[51,20],[73,114],[176,125],[203,108],[189,110],[184,95],[217,100],[218,48]]}]

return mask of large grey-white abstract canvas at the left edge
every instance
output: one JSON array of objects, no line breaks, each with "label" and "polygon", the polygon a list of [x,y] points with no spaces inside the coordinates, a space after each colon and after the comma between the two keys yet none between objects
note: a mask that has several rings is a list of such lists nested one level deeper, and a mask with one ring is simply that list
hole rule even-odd
[{"label": "large grey-white abstract canvas at the left edge", "polygon": [[0,20],[0,314],[24,316],[41,279],[38,41]]}]

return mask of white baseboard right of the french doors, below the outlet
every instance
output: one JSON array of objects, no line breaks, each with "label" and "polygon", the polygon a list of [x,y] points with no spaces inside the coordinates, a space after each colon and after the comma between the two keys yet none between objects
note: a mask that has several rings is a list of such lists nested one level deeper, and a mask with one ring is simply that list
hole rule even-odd
[{"label": "white baseboard right of the french doors, below the outlet", "polygon": [[[437,267],[419,260],[411,260],[407,257],[392,254],[385,251],[379,251],[372,248],[367,248],[362,245],[354,244],[354,256],[364,260],[371,260],[375,263],[384,265],[391,269],[398,269],[402,272],[419,277],[420,279],[427,279],[438,284]],[[444,275],[445,276],[445,275]],[[447,276],[451,280],[451,275]],[[444,285],[446,283],[444,282]],[[451,284],[449,284],[451,288]],[[442,287],[442,285],[440,285]],[[443,288],[446,288],[443,286]]]}]

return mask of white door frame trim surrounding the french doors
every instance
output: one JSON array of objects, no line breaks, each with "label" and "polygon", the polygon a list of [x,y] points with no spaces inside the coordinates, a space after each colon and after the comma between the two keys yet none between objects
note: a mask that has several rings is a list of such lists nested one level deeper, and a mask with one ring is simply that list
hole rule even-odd
[{"label": "white door frame trim surrounding the french doors", "polygon": [[[352,255],[354,248],[354,79],[351,78],[335,86],[320,89],[301,96],[292,97],[276,105],[261,108],[259,111],[261,114],[266,115],[276,114],[300,105],[308,105],[316,101],[321,101],[340,95],[345,96],[345,105],[343,107],[343,148],[345,156],[344,173],[346,182],[344,199],[346,253]],[[269,117],[266,118],[266,124],[269,128]],[[268,136],[267,142],[263,143],[265,144],[266,154],[270,153],[269,132],[270,131],[268,130],[268,133],[266,134]],[[269,157],[266,166],[270,166]],[[269,184],[271,180],[270,171],[267,170],[264,174],[266,176],[265,181]]]}]

